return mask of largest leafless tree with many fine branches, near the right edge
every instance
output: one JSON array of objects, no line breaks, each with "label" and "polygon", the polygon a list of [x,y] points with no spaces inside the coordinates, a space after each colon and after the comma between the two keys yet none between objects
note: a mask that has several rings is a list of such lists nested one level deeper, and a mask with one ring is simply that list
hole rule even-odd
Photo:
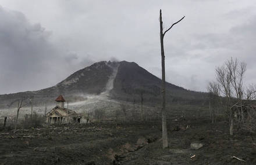
[{"label": "largest leafless tree with many fine branches, near the right edge", "polygon": [[215,69],[222,96],[226,99],[226,112],[229,116],[229,134],[233,135],[234,117],[238,116],[238,125],[244,123],[244,103],[255,98],[253,85],[244,90],[243,80],[246,63],[230,58],[221,67]]}]

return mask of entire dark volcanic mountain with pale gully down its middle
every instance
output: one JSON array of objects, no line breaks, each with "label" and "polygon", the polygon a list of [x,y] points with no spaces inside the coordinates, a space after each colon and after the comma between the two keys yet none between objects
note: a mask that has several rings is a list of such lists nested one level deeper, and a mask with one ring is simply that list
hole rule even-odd
[{"label": "entire dark volcanic mountain with pale gully down its middle", "polygon": [[[90,67],[80,69],[62,82],[47,89],[0,95],[0,108],[16,106],[20,98],[33,98],[34,105],[53,103],[62,94],[70,102],[86,100],[88,94],[99,95],[108,91],[108,97],[116,100],[161,101],[161,79],[127,61],[101,61]],[[205,93],[189,91],[166,83],[168,101],[204,100]]]}]

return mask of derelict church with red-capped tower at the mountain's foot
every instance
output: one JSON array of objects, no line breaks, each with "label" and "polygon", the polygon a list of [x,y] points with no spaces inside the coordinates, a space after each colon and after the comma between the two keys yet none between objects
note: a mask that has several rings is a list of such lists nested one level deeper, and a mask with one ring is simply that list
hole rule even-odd
[{"label": "derelict church with red-capped tower at the mountain's foot", "polygon": [[60,95],[55,101],[56,107],[46,115],[47,123],[80,123],[81,115],[70,109],[64,108],[65,99],[63,96]]}]

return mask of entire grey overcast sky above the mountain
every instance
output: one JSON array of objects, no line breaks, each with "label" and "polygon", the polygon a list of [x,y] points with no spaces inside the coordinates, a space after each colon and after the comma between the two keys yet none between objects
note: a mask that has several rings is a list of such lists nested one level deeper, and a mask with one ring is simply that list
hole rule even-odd
[{"label": "entire grey overcast sky above the mountain", "polygon": [[166,28],[166,80],[205,91],[216,65],[247,63],[256,82],[255,0],[0,0],[0,93],[53,86],[101,60],[134,61],[161,77],[159,9]]}]

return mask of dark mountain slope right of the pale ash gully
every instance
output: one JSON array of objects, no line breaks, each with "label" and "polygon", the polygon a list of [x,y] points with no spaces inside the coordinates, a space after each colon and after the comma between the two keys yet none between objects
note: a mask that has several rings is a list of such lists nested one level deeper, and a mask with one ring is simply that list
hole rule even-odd
[{"label": "dark mountain slope right of the pale ash gully", "polygon": [[[140,67],[136,63],[121,61],[116,75],[113,94],[123,96],[127,101],[144,96],[145,101],[161,100],[162,80]],[[183,87],[166,82],[166,98],[168,101],[204,100],[206,94],[186,90]],[[130,99],[129,99],[130,98]]]}]

